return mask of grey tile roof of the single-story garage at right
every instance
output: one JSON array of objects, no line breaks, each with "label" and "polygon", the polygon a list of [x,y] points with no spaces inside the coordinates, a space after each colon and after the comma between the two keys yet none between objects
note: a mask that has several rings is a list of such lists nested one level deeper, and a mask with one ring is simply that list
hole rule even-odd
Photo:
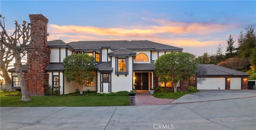
[{"label": "grey tile roof of the single-story garage at right", "polygon": [[229,75],[229,76],[249,76],[249,74],[236,71],[234,69],[229,69],[226,67],[222,67],[214,64],[199,64],[200,67],[203,67],[206,70],[206,75],[214,76],[214,75]]}]

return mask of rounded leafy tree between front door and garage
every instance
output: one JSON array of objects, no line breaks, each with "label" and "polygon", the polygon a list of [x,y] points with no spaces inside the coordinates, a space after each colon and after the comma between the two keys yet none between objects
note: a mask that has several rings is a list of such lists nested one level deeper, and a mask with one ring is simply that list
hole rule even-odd
[{"label": "rounded leafy tree between front door and garage", "polygon": [[195,55],[186,52],[173,52],[160,56],[155,63],[156,76],[160,82],[171,82],[174,93],[177,93],[178,81],[196,74],[197,60]]}]

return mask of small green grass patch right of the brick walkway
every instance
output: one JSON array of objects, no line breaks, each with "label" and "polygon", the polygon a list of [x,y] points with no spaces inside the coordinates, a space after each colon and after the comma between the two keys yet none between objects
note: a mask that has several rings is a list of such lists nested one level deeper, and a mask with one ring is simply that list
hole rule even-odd
[{"label": "small green grass patch right of the brick walkway", "polygon": [[194,92],[192,91],[178,91],[177,93],[173,92],[155,92],[153,94],[154,97],[156,98],[165,98],[165,99],[178,99],[182,97],[183,95],[189,94],[189,93],[195,93],[195,92],[200,92],[200,90],[196,90]]}]

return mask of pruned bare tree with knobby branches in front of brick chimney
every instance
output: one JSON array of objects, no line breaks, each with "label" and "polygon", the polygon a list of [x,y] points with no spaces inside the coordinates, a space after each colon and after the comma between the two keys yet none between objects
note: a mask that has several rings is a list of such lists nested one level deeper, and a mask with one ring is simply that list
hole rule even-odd
[{"label": "pruned bare tree with knobby branches in front of brick chimney", "polygon": [[[6,19],[0,15],[0,27],[2,28],[2,32],[0,32],[0,42],[1,46],[5,46],[12,53],[8,56],[8,58],[15,59],[14,67],[15,72],[18,75],[20,88],[22,92],[22,101],[31,100],[28,88],[25,83],[24,74],[22,72],[22,58],[26,56],[29,57],[27,63],[32,64],[34,60],[40,60],[44,58],[46,55],[44,53],[40,53],[38,55],[31,55],[27,53],[28,51],[37,51],[38,44],[44,43],[45,35],[43,27],[33,28],[30,30],[30,26],[32,24],[22,21],[23,24],[20,26],[17,21],[15,21],[15,30],[12,35],[9,35],[5,29],[5,21]],[[38,39],[40,39],[38,41]],[[6,66],[6,65],[5,65]]]}]

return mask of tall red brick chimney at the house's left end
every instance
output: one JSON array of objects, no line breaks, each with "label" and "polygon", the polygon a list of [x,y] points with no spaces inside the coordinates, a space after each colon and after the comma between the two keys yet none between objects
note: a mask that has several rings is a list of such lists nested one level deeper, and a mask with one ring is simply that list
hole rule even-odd
[{"label": "tall red brick chimney at the house's left end", "polygon": [[[50,65],[50,50],[47,47],[47,23],[48,19],[42,14],[29,14],[31,33],[30,37],[36,37],[36,48],[28,50],[27,73],[25,73],[26,85],[30,95],[43,96],[48,83],[49,74],[45,68]],[[40,32],[42,36],[36,36]],[[33,47],[34,44],[31,44]],[[35,59],[35,57],[37,57]]]}]

